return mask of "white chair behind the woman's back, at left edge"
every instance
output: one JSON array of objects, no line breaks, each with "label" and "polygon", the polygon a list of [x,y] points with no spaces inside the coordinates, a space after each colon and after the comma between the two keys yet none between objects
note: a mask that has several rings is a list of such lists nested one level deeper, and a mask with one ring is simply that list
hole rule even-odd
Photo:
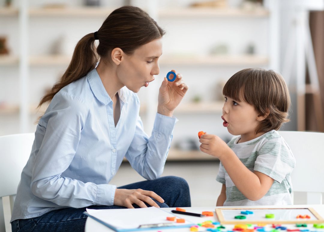
[{"label": "white chair behind the woman's back, at left edge", "polygon": [[21,171],[29,158],[34,138],[34,133],[0,136],[0,211],[3,207],[3,214],[0,212],[0,231],[11,232],[14,195],[17,193]]}]

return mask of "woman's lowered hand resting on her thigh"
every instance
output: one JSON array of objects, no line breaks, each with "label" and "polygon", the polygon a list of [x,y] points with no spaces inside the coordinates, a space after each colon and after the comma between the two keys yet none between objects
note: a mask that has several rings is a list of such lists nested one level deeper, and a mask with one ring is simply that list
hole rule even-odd
[{"label": "woman's lowered hand resting on her thigh", "polygon": [[146,204],[160,208],[152,198],[158,202],[164,203],[164,200],[152,191],[143,189],[116,189],[114,205],[124,206],[126,208],[134,208],[133,204],[137,204],[141,208],[146,208]]}]

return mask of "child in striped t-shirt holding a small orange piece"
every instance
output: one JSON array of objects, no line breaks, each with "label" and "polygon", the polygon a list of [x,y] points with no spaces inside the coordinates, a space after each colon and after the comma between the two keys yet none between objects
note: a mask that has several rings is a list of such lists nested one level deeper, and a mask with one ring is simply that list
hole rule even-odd
[{"label": "child in striped t-shirt holding a small orange piece", "polygon": [[283,77],[264,69],[235,73],[223,89],[223,126],[233,138],[200,138],[200,149],[219,158],[223,183],[216,206],[292,204],[295,158],[276,130],[287,119],[290,97]]}]

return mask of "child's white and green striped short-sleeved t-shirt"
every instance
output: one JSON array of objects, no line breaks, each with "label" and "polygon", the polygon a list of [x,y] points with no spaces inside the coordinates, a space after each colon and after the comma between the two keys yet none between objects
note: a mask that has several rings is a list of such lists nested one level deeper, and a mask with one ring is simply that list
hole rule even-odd
[{"label": "child's white and green striped short-sleeved t-shirt", "polygon": [[239,139],[240,136],[233,138],[227,145],[250,171],[262,172],[274,179],[274,182],[260,200],[251,201],[237,189],[220,163],[216,180],[226,184],[224,206],[293,204],[290,196],[292,191],[290,173],[295,167],[296,160],[284,138],[272,130],[247,142],[237,143]]}]

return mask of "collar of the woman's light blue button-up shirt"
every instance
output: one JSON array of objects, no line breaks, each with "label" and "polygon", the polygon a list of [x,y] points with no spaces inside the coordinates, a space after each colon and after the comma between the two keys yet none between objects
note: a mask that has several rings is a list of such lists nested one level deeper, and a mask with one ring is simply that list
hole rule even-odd
[{"label": "collar of the woman's light blue button-up shirt", "polygon": [[[104,105],[108,105],[111,102],[111,98],[109,94],[107,93],[105,87],[103,86],[103,83],[99,77],[99,74],[96,69],[91,70],[87,73],[87,79],[90,84],[90,88],[92,90],[92,93],[95,95],[95,97],[98,99],[99,102],[101,102]],[[126,87],[121,88],[118,91],[119,98],[123,103],[127,103],[128,95],[127,91],[125,89]]]}]

